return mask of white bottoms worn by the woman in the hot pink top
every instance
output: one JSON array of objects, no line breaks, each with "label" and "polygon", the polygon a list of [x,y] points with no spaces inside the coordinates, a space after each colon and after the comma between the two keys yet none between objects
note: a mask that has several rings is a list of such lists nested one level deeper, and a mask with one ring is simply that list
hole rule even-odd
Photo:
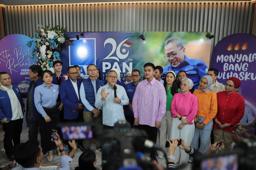
[{"label": "white bottoms worn by the woman in the hot pink top", "polygon": [[[186,117],[183,117],[183,118],[185,119]],[[180,130],[178,129],[178,126],[180,125],[180,123],[182,123],[182,121],[180,121],[177,117],[172,118],[170,139],[178,139],[180,137],[184,139],[184,141],[186,142],[186,145],[190,147],[193,139],[193,135],[194,135],[195,125],[186,124]],[[176,148],[174,152],[174,156],[175,156],[175,160],[174,160],[175,164],[179,162],[179,165],[182,165],[188,162],[189,155],[185,152],[185,150],[180,149],[179,147]]]}]

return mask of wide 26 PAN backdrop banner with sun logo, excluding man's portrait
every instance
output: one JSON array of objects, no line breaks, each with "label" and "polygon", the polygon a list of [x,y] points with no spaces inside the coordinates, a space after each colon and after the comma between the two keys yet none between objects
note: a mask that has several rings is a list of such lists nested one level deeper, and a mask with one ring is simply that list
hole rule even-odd
[{"label": "wide 26 PAN backdrop banner with sun logo, excluding man's portrait", "polygon": [[[182,39],[189,59],[200,59],[206,66],[210,63],[210,39],[206,38],[205,32],[145,32],[145,41],[140,39],[142,32],[87,32],[83,37],[80,33],[66,35],[74,42],[60,53],[63,70],[66,72],[68,66],[79,65],[82,77],[88,77],[89,64],[100,68],[103,80],[110,69],[118,69],[121,82],[126,81],[125,74],[133,69],[140,70],[143,76],[145,63],[168,66],[170,63],[164,58],[164,41],[169,37]],[[192,71],[192,68],[187,69]]]}]

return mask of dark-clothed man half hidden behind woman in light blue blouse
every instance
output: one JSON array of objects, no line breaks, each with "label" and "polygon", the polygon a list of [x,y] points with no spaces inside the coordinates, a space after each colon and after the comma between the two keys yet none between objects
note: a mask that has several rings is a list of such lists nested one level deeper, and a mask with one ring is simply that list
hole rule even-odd
[{"label": "dark-clothed man half hidden behind woman in light blue blouse", "polygon": [[38,111],[34,102],[34,92],[35,88],[41,84],[43,84],[42,76],[42,68],[39,65],[32,65],[29,67],[29,77],[32,79],[28,87],[28,95],[27,95],[27,111],[26,111],[26,121],[28,123],[28,139],[37,139],[38,135]]}]

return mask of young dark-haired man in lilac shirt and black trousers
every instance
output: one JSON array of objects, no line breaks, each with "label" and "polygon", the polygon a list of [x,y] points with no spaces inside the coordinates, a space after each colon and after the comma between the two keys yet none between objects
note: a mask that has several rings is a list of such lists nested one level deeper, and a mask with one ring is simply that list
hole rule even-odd
[{"label": "young dark-haired man in lilac shirt and black trousers", "polygon": [[[164,85],[154,78],[155,66],[144,65],[145,80],[139,82],[132,100],[134,124],[148,134],[149,140],[156,142],[157,128],[161,125],[166,111],[166,92]],[[150,157],[156,160],[155,152]]]}]

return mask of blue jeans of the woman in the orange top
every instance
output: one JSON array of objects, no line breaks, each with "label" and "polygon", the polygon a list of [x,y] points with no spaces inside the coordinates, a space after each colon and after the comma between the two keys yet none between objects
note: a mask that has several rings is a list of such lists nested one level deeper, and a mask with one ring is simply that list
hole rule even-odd
[{"label": "blue jeans of the woman in the orange top", "polygon": [[[204,121],[204,117],[196,116],[198,123],[202,123]],[[199,152],[202,154],[206,153],[206,150],[209,147],[209,142],[210,142],[210,135],[212,131],[212,125],[213,121],[211,120],[209,123],[204,125],[204,128],[198,129],[195,125],[195,132],[194,132],[194,137],[192,139],[191,147],[198,149],[198,143],[199,143],[199,138],[200,138],[200,149]]]}]

